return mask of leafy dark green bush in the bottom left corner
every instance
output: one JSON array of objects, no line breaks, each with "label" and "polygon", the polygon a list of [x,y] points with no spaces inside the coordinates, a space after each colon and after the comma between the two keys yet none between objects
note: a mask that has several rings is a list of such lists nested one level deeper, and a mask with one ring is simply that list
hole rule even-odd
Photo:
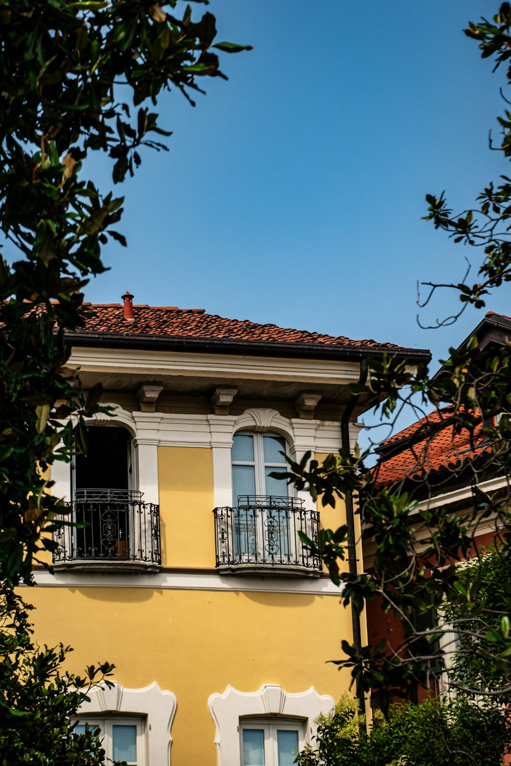
[{"label": "leafy dark green bush in the bottom left corner", "polygon": [[110,684],[113,666],[66,673],[70,647],[38,647],[31,609],[10,583],[0,583],[0,764],[100,766],[106,763],[100,739],[93,728],[74,734],[75,716],[94,686]]}]

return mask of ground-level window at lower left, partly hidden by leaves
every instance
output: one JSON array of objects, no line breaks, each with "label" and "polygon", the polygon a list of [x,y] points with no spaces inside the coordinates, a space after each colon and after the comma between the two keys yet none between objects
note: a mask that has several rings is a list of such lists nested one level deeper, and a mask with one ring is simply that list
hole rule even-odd
[{"label": "ground-level window at lower left, partly hidden by leaves", "polygon": [[145,758],[145,725],[137,718],[106,718],[80,719],[75,726],[76,734],[89,728],[98,728],[100,740],[106,752],[106,758],[112,761],[126,761],[128,766],[144,766]]}]

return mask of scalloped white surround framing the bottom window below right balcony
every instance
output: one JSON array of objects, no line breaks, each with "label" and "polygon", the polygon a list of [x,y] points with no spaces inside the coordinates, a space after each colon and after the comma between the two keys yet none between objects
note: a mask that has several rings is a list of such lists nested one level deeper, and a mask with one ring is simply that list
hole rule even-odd
[{"label": "scalloped white surround framing the bottom window below right balcony", "polygon": [[310,743],[316,734],[314,719],[319,713],[332,710],[333,706],[332,697],[320,696],[313,686],[298,694],[289,694],[277,684],[264,684],[257,692],[238,692],[228,686],[223,694],[212,694],[208,708],[215,722],[218,766],[240,766],[238,727],[244,716],[280,715],[302,719],[305,740]]}]

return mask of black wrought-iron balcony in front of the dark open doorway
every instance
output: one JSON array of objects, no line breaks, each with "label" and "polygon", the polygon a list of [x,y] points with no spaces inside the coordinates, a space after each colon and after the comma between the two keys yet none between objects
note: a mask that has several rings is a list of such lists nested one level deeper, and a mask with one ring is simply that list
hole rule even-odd
[{"label": "black wrought-iron balcony in front of the dark open doorway", "polygon": [[77,489],[54,532],[55,567],[156,571],[162,563],[159,506],[129,489]]}]

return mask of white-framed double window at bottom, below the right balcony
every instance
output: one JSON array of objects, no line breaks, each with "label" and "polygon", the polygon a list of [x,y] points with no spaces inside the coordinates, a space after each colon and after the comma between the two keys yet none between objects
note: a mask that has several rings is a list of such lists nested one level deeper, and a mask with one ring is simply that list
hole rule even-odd
[{"label": "white-framed double window at bottom, below the right balcony", "polygon": [[303,746],[300,722],[240,719],[241,766],[293,766]]}]

